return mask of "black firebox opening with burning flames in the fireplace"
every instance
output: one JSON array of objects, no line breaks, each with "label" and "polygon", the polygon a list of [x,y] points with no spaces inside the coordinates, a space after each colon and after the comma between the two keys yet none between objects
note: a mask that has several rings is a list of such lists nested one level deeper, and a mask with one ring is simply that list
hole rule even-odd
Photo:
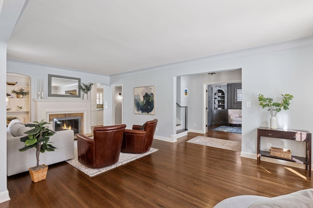
[{"label": "black firebox opening with burning flames in the fireplace", "polygon": [[53,129],[57,131],[73,130],[74,135],[81,132],[81,116],[53,118]]}]

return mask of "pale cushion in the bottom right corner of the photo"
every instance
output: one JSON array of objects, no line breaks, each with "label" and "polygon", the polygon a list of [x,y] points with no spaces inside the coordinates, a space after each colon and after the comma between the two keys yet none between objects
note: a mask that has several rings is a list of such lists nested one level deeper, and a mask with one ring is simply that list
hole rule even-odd
[{"label": "pale cushion in the bottom right corner of the photo", "polygon": [[256,202],[248,208],[310,208],[312,205],[313,189],[304,189]]}]

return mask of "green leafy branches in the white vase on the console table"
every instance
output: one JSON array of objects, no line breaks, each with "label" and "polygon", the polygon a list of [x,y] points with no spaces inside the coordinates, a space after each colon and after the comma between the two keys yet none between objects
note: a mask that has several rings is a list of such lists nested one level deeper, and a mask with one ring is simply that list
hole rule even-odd
[{"label": "green leafy branches in the white vase on the console table", "polygon": [[290,94],[285,95],[281,94],[281,95],[283,96],[281,102],[273,102],[273,98],[265,97],[264,95],[260,94],[258,96],[260,106],[262,106],[262,108],[268,108],[268,111],[271,116],[276,116],[276,114],[280,112],[282,109],[287,111],[289,109],[288,107],[290,105],[290,101],[293,98],[293,95]]}]

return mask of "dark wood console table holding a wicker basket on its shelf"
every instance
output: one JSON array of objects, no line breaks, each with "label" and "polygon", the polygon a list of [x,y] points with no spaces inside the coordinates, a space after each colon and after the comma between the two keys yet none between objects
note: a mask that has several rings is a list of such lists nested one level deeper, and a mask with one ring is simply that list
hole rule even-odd
[{"label": "dark wood console table holding a wicker basket on its shelf", "polygon": [[[293,156],[291,155],[291,159],[281,158],[281,157],[275,157],[271,156],[269,151],[261,151],[260,150],[260,140],[261,136],[264,137],[271,137],[271,138],[277,138],[277,139],[289,139],[299,142],[305,142],[305,154],[306,157],[299,157],[299,156]],[[291,129],[270,129],[267,127],[259,127],[258,128],[258,141],[257,141],[257,161],[258,164],[260,163],[260,157],[270,157],[275,159],[281,159],[286,160],[290,162],[296,162],[300,164],[305,164],[305,170],[308,170],[308,176],[311,177],[311,150],[312,150],[312,134],[308,131],[303,130],[291,130]],[[292,151],[291,151],[292,152]]]}]

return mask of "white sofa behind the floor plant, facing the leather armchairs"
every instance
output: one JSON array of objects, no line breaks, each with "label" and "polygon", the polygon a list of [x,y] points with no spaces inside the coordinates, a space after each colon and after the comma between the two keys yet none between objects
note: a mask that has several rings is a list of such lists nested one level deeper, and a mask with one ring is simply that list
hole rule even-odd
[{"label": "white sofa behind the floor plant, facing the leather armchairs", "polygon": [[[23,132],[29,129],[29,127],[25,127],[21,124],[22,123],[18,120],[13,120],[8,125],[6,131],[7,176],[28,171],[28,168],[36,166],[37,163],[35,148],[22,152],[19,151],[19,149],[24,147],[24,143],[21,142],[20,138],[23,135],[26,135],[23,134]],[[17,127],[18,125],[19,127]],[[74,157],[73,130],[56,132],[50,137],[50,142],[53,142],[52,145],[57,149],[55,149],[55,151],[45,151],[44,153],[40,153],[39,164],[51,165]]]}]

